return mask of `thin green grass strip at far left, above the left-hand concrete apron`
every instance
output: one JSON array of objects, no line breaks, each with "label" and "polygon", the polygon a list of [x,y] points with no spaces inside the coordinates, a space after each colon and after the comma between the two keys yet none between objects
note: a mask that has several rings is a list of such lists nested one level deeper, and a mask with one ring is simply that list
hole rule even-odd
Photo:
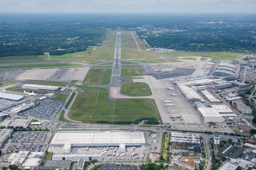
[{"label": "thin green grass strip at far left, above the left-hand concrete apron", "polygon": [[82,66],[74,63],[38,63],[38,64],[16,64],[9,66],[0,66],[0,69],[15,69],[15,68],[56,68],[56,67],[74,67]]}]

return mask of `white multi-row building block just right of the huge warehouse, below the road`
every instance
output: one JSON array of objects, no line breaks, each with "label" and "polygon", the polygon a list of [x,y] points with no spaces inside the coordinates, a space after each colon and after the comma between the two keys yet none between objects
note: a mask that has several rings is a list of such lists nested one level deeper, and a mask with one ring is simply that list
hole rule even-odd
[{"label": "white multi-row building block just right of the huge warehouse, below the road", "polygon": [[200,144],[198,134],[171,132],[170,142],[174,144]]}]

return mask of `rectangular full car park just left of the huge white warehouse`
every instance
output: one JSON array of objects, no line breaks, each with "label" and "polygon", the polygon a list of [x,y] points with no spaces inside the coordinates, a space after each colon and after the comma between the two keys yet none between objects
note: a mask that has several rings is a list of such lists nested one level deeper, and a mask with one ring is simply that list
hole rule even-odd
[{"label": "rectangular full car park just left of the huge white warehouse", "polygon": [[49,132],[14,132],[12,136],[11,144],[41,144],[46,142]]}]

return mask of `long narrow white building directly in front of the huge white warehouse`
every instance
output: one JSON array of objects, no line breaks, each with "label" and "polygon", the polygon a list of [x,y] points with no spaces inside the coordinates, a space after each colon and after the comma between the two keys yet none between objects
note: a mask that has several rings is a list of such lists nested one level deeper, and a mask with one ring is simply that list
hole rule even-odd
[{"label": "long narrow white building directly in front of the huge white warehouse", "polygon": [[85,161],[97,160],[102,161],[101,154],[54,154],[52,160],[71,160],[78,161],[84,159]]}]

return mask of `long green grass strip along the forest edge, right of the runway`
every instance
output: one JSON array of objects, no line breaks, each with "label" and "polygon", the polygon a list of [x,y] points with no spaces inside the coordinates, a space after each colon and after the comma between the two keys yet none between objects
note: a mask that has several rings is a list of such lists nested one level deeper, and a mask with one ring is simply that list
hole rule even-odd
[{"label": "long green grass strip along the forest edge, right of the runway", "polygon": [[172,53],[158,53],[150,52],[155,55],[166,57],[192,57],[192,56],[209,56],[212,60],[220,59],[238,59],[243,53],[236,52],[172,52]]}]

